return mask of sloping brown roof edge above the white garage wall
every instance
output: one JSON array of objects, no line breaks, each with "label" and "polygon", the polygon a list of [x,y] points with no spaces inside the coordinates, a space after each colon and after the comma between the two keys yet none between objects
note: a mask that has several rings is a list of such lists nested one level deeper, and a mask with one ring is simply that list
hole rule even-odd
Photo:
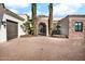
[{"label": "sloping brown roof edge above the white garage wall", "polygon": [[[2,5],[3,5],[3,7],[2,7]],[[16,14],[16,13],[10,11],[9,9],[6,9],[3,3],[0,3],[0,7],[2,7],[2,8],[4,9],[4,13],[5,13],[5,14],[9,14],[9,15],[11,15],[11,16],[14,16],[15,18],[18,18],[18,20],[20,20],[20,21],[24,21],[24,18],[20,17],[18,14]]]}]

